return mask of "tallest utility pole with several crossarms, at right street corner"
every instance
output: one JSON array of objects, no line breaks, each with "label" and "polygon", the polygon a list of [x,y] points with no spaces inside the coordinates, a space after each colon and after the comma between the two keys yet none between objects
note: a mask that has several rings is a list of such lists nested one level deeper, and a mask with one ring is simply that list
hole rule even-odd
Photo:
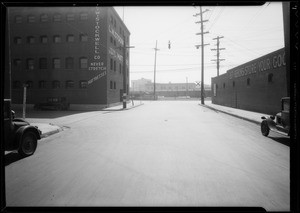
[{"label": "tallest utility pole with several crossarms, at right street corner", "polygon": [[203,20],[203,13],[207,12],[209,10],[205,10],[202,12],[202,7],[200,6],[200,13],[197,13],[196,15],[194,15],[195,17],[200,15],[200,21],[195,22],[196,24],[201,24],[201,32],[200,33],[196,33],[196,35],[201,35],[201,45],[196,45],[196,48],[199,49],[199,47],[201,46],[201,104],[204,104],[204,46],[209,45],[209,44],[204,44],[204,34],[208,33],[207,32],[203,32],[203,22],[207,22],[208,20]]}]

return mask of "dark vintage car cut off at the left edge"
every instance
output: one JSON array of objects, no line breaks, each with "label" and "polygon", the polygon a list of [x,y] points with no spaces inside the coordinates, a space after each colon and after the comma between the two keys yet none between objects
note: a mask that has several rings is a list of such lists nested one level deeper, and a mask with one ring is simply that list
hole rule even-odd
[{"label": "dark vintage car cut off at the left edge", "polygon": [[32,155],[41,139],[41,131],[21,118],[14,118],[10,99],[4,99],[3,107],[5,151],[17,150],[22,157]]}]

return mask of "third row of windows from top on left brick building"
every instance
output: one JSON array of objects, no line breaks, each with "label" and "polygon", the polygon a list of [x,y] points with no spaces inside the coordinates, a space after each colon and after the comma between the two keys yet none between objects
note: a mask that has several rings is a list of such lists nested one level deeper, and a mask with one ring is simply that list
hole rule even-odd
[{"label": "third row of windows from top on left brick building", "polygon": [[[25,59],[25,66],[28,70],[34,70],[37,68],[35,59],[33,58],[27,58]],[[65,59],[65,69],[73,69],[74,68],[74,58],[73,57],[67,57]],[[13,60],[14,68],[22,68],[22,60],[19,58],[16,58]],[[39,69],[48,69],[48,59],[47,58],[39,58],[38,59],[38,68]],[[78,66],[80,69],[86,69],[88,68],[88,59],[86,57],[79,58]],[[61,69],[62,68],[62,60],[61,58],[52,58],[52,64],[51,68],[53,69]]]}]

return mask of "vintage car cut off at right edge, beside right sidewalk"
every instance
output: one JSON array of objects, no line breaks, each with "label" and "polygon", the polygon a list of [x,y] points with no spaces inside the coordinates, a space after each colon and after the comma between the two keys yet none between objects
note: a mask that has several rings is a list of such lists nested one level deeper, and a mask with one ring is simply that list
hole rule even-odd
[{"label": "vintage car cut off at right edge, beside right sidewalk", "polygon": [[263,121],[261,122],[261,133],[264,136],[268,136],[270,130],[283,134],[290,135],[290,98],[285,97],[281,99],[281,112],[277,113],[275,116],[261,117]]}]

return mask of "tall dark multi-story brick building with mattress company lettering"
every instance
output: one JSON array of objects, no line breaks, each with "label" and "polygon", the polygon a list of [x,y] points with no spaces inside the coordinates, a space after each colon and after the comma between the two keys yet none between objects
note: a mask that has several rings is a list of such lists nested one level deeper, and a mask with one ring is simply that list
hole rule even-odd
[{"label": "tall dark multi-story brick building with mattress company lettering", "polygon": [[71,108],[129,93],[130,32],[114,8],[10,7],[7,17],[12,103],[22,103],[24,85],[28,104],[64,97]]}]

